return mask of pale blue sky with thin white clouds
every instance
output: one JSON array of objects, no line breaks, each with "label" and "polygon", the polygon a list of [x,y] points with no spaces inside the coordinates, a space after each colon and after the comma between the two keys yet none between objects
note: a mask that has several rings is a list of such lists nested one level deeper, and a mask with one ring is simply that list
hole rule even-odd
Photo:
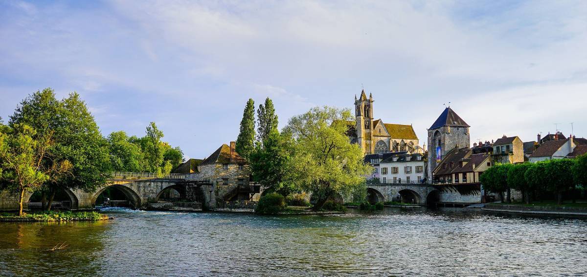
[{"label": "pale blue sky with thin white clouds", "polygon": [[[587,136],[587,1],[0,0],[0,117],[27,95],[77,91],[104,136],[144,135],[204,158],[248,100],[280,128],[311,107],[427,128],[453,108],[471,143]],[[558,124],[558,125],[555,125]]]}]

